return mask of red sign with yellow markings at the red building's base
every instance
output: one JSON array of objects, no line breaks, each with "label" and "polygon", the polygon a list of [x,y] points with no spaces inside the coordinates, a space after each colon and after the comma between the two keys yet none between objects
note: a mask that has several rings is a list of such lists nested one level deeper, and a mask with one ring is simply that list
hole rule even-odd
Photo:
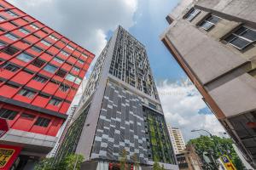
[{"label": "red sign with yellow markings at the red building's base", "polygon": [[20,154],[20,147],[0,144],[0,170],[9,170]]}]

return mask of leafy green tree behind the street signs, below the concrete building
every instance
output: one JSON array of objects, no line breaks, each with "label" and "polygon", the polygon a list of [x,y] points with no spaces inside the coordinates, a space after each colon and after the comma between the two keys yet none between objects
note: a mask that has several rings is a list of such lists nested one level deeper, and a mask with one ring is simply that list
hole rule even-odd
[{"label": "leafy green tree behind the street signs, below the concrete building", "polygon": [[217,160],[219,156],[228,155],[236,169],[244,169],[240,158],[237,156],[232,146],[232,139],[220,138],[218,136],[212,136],[212,138],[201,136],[196,139],[190,139],[188,144],[195,146],[195,150],[202,160],[203,152],[211,152],[215,160]]}]

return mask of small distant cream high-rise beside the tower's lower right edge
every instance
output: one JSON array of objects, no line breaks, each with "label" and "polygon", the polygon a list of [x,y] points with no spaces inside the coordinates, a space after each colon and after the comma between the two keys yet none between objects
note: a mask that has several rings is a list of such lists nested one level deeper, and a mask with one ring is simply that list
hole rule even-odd
[{"label": "small distant cream high-rise beside the tower's lower right edge", "polygon": [[175,155],[183,153],[183,151],[186,149],[186,145],[181,130],[177,127],[171,127],[169,124],[167,125],[167,128],[171,137]]}]

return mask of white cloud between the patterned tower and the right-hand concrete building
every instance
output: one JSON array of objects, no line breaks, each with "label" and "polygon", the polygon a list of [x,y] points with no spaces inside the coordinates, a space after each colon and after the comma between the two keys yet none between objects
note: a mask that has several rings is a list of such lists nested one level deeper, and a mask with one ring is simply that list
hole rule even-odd
[{"label": "white cloud between the patterned tower and the right-hand concrete building", "polygon": [[189,80],[172,83],[165,81],[160,83],[157,88],[166,122],[173,127],[180,127],[186,141],[200,134],[207,134],[191,133],[192,129],[202,128],[216,135],[219,135],[219,132],[224,132],[224,128],[213,114],[200,113],[207,105]]}]

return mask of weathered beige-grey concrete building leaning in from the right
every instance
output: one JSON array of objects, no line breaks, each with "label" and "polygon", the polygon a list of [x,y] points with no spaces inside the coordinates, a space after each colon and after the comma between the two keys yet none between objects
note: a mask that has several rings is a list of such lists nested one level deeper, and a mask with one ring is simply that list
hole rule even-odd
[{"label": "weathered beige-grey concrete building leaning in from the right", "polygon": [[256,1],[183,0],[161,40],[251,164],[256,162]]}]

